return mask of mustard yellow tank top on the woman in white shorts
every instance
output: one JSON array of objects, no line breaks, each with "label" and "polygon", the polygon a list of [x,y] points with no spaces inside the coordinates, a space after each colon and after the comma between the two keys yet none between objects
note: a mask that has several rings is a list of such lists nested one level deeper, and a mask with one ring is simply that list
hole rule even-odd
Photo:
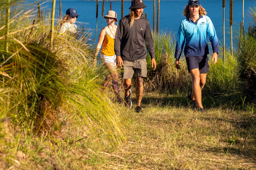
[{"label": "mustard yellow tank top on the woman in white shorts", "polygon": [[106,33],[106,36],[102,43],[101,54],[106,56],[115,55],[114,44],[115,44],[115,39],[110,37],[108,33]]}]

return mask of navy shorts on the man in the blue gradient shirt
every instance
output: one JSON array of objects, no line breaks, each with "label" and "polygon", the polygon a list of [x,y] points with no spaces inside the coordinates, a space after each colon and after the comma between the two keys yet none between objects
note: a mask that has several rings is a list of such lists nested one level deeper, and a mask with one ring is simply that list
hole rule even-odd
[{"label": "navy shorts on the man in the blue gradient shirt", "polygon": [[199,69],[201,74],[206,74],[209,70],[209,63],[207,55],[201,57],[186,56],[188,72],[193,69]]}]

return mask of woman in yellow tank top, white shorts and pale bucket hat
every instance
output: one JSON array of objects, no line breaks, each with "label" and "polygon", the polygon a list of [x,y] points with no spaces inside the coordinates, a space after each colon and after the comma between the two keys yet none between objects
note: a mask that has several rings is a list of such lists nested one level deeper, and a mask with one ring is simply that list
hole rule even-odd
[{"label": "woman in yellow tank top, white shorts and pale bucket hat", "polygon": [[119,96],[118,74],[116,70],[116,55],[114,51],[115,35],[117,28],[115,22],[118,21],[116,16],[117,14],[115,11],[108,11],[107,15],[104,16],[108,25],[100,31],[99,41],[94,53],[94,63],[96,62],[96,58],[102,45],[100,56],[102,62],[109,70],[106,78],[103,81],[102,91],[105,91],[105,89],[109,86],[110,81],[112,80],[112,88],[114,89],[116,100],[121,103],[122,99]]}]

